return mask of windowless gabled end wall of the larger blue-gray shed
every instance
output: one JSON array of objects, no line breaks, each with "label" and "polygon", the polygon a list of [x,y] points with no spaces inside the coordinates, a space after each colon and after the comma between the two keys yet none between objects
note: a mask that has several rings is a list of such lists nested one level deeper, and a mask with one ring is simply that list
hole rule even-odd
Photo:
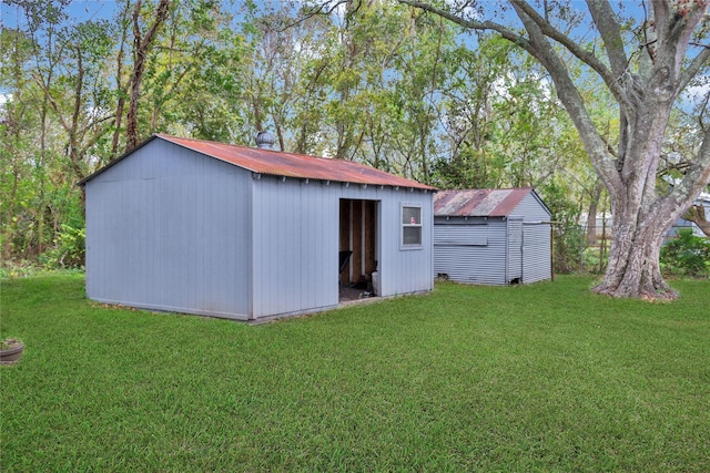
[{"label": "windowless gabled end wall of the larger blue-gray shed", "polygon": [[244,319],[251,174],[160,140],[85,185],[87,296]]}]

